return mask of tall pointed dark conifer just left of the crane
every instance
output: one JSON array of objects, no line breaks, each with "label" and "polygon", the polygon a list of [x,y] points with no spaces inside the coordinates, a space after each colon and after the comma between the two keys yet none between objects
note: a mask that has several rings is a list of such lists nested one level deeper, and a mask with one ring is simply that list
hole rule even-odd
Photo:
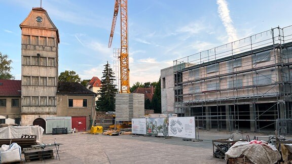
[{"label": "tall pointed dark conifer just left of the crane", "polygon": [[115,76],[111,65],[106,62],[102,71],[101,88],[98,91],[100,97],[96,101],[97,111],[114,111],[115,93],[118,93],[117,85],[114,85]]}]

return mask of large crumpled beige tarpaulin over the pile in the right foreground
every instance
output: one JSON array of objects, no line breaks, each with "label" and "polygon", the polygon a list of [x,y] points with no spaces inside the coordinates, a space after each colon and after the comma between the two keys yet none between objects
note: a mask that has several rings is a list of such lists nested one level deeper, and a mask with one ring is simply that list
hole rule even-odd
[{"label": "large crumpled beige tarpaulin over the pile in the right foreground", "polygon": [[236,158],[245,155],[253,163],[258,164],[274,164],[281,155],[275,146],[259,141],[238,141],[225,153],[225,159]]}]

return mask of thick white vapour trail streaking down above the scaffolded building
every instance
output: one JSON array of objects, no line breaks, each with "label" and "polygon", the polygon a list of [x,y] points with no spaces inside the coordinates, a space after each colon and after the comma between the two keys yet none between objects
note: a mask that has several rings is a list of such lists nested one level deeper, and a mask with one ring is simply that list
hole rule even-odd
[{"label": "thick white vapour trail streaking down above the scaffolded building", "polygon": [[219,17],[222,20],[223,25],[225,26],[225,30],[227,32],[228,37],[228,42],[234,42],[238,40],[237,34],[236,34],[236,29],[234,28],[232,24],[232,19],[229,15],[229,9],[227,2],[225,0],[217,0],[217,5],[218,5],[218,14]]}]

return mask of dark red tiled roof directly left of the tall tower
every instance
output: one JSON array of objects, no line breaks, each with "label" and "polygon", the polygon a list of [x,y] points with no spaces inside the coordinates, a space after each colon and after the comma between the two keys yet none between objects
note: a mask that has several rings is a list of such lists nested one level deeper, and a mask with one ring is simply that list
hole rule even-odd
[{"label": "dark red tiled roof directly left of the tall tower", "polygon": [[0,96],[21,96],[21,80],[0,79]]}]

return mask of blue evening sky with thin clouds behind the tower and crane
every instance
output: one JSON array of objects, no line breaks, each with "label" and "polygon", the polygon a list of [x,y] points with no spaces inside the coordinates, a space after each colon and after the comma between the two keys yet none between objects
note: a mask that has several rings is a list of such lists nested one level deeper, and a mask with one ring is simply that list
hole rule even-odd
[{"label": "blue evening sky with thin clouds behind the tower and crane", "polygon": [[[60,34],[59,73],[74,70],[82,79],[101,77],[106,61],[115,70],[120,48],[118,17],[112,48],[107,48],[114,0],[43,0]],[[128,0],[130,84],[157,81],[173,60],[249,35],[292,25],[292,1]],[[21,79],[19,24],[40,0],[0,0],[0,52],[13,61]]]}]

